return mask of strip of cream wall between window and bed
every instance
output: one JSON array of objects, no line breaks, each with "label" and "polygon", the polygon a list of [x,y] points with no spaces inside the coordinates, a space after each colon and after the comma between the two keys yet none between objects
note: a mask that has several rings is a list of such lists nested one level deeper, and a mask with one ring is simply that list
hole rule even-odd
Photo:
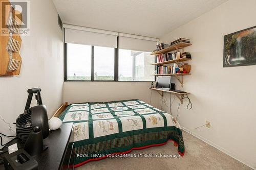
[{"label": "strip of cream wall between window and bed", "polygon": [[[151,82],[64,82],[63,102],[108,102],[140,99],[150,103]],[[152,94],[152,99],[155,94]],[[158,105],[158,101],[152,101]]]}]

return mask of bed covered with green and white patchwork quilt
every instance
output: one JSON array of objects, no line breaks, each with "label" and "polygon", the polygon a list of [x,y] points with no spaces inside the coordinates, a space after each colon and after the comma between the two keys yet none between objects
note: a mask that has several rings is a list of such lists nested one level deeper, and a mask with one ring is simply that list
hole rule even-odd
[{"label": "bed covered with green and white patchwork quilt", "polygon": [[172,140],[185,153],[179,123],[141,100],[63,104],[54,114],[62,123],[73,122],[74,166],[165,144]]}]

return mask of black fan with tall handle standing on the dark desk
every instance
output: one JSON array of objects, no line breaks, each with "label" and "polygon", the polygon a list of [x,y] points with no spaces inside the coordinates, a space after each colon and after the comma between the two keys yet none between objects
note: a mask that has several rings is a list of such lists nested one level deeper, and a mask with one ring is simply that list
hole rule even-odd
[{"label": "black fan with tall handle standing on the dark desk", "polygon": [[[38,155],[47,147],[43,145],[42,139],[49,135],[49,125],[46,106],[42,105],[41,89],[28,89],[28,99],[23,114],[20,114],[16,119],[17,137],[26,141],[24,150],[31,156]],[[35,94],[37,106],[31,107],[30,104]]]}]

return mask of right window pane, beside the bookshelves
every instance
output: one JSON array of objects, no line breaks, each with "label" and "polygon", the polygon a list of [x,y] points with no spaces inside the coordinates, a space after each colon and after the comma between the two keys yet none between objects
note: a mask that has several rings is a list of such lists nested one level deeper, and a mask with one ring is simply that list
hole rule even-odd
[{"label": "right window pane, beside the bookshelves", "polygon": [[148,52],[119,49],[118,80],[119,81],[155,81],[150,76],[155,70],[155,57]]}]

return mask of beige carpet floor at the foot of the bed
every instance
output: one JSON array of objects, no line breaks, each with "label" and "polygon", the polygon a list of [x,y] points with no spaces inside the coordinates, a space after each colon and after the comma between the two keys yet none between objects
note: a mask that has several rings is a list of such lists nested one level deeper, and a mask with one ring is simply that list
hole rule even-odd
[{"label": "beige carpet floor at the foot of the bed", "polygon": [[[180,158],[106,158],[77,167],[76,170],[100,169],[251,169],[209,144],[183,131],[185,155]],[[159,147],[131,153],[177,154],[172,141]]]}]

